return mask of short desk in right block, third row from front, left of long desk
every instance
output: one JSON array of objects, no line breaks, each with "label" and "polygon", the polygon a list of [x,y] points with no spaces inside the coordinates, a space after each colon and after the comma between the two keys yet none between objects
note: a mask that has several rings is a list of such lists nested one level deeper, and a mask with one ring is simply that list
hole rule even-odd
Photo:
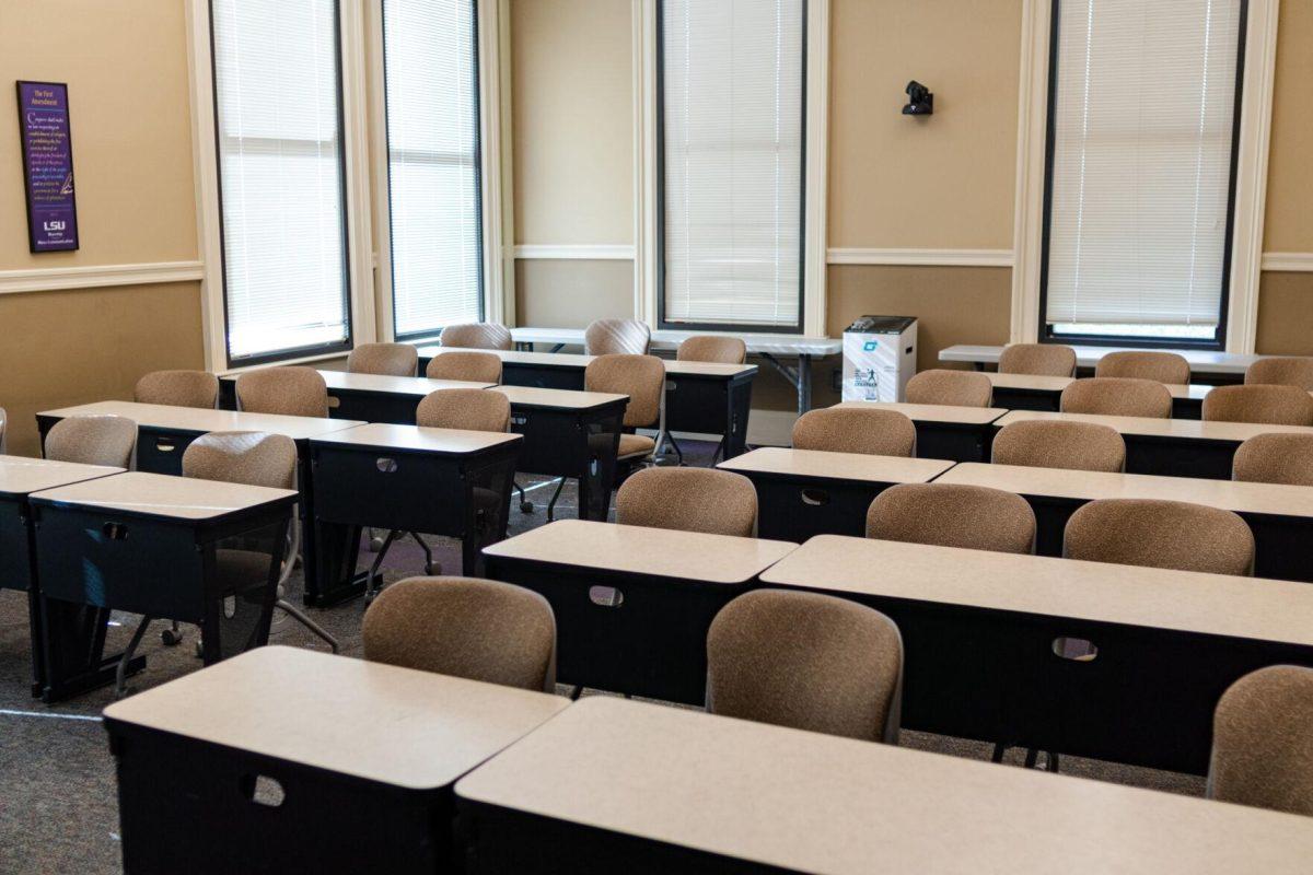
[{"label": "short desk in right block, third row from front, left of long desk", "polygon": [[762,447],[717,467],[756,487],[758,537],[802,543],[825,534],[860,538],[877,495],[895,483],[930,483],[953,463]]}]

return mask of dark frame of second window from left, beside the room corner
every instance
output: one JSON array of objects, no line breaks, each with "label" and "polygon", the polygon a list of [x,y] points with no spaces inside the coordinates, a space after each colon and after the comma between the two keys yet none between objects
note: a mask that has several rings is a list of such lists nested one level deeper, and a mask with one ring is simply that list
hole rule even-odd
[{"label": "dark frame of second window from left, beside the room corner", "polygon": [[[484,254],[484,234],[483,234],[483,51],[481,47],[482,39],[482,17],[479,16],[479,0],[461,0],[470,5],[470,14],[473,17],[474,25],[474,45],[473,45],[473,70],[474,70],[474,192],[475,192],[475,205],[474,205],[474,220],[478,234],[478,303],[479,303],[479,321],[487,319],[488,312],[488,289],[486,277],[486,254]],[[424,341],[439,337],[445,325],[437,328],[428,328],[418,332],[399,333],[397,331],[397,260],[393,254],[393,144],[391,144],[391,131],[387,119],[387,0],[379,0],[378,4],[378,46],[379,46],[379,81],[382,91],[383,104],[379,108],[378,115],[382,118],[382,144],[383,152],[379,157],[382,163],[382,193],[385,197],[385,203],[387,207],[386,226],[387,226],[387,289],[381,290],[379,294],[386,294],[389,298],[389,319],[387,325],[389,336],[397,342],[414,342]]]}]

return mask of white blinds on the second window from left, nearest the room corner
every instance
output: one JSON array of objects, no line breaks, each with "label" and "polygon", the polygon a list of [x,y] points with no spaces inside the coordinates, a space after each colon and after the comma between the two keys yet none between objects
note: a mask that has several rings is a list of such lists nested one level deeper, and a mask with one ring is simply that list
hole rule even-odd
[{"label": "white blinds on the second window from left, nearest the room corner", "polygon": [[474,0],[385,0],[393,317],[400,338],[482,317]]}]

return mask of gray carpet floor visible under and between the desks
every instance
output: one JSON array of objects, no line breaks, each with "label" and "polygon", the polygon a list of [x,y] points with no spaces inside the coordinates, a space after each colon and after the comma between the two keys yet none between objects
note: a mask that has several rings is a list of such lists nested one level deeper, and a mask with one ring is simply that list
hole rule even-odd
[{"label": "gray carpet floor visible under and between the desks", "polygon": [[[704,460],[709,446],[685,446],[691,462]],[[704,460],[705,463],[705,460]],[[529,495],[538,509],[532,514],[512,510],[511,533],[542,525],[545,506],[553,487],[540,479],[521,479],[536,487]],[[576,516],[572,485],[567,485],[557,505],[558,518]],[[446,569],[460,568],[457,542],[429,538],[436,559]],[[362,561],[372,560],[362,552]],[[423,556],[412,543],[399,542],[385,564],[387,582],[423,573]],[[290,596],[299,603],[299,580],[293,577]],[[341,652],[360,656],[361,600],[328,610],[310,610],[315,621],[341,643]],[[117,617],[119,624],[110,630],[106,652],[122,649],[135,626],[130,615]],[[192,641],[194,628],[186,630],[186,641],[165,647],[155,627],[142,643],[147,668],[131,678],[134,691],[150,689],[200,668]],[[293,647],[326,649],[323,643],[301,624],[276,615],[270,641]],[[118,845],[118,807],[113,760],[100,711],[112,699],[110,690],[98,690],[72,702],[45,706],[29,695],[30,664],[28,651],[26,597],[0,590],[0,872],[8,875],[51,872],[121,872]],[[565,694],[566,687],[559,691]],[[990,746],[983,743],[905,731],[905,746],[936,753],[987,760]],[[1023,752],[1008,753],[1006,766],[1019,767]],[[1062,771],[1070,775],[1109,781],[1170,792],[1200,795],[1201,778],[1115,763],[1062,758]],[[183,863],[180,863],[183,866]],[[184,866],[185,868],[185,866]]]}]

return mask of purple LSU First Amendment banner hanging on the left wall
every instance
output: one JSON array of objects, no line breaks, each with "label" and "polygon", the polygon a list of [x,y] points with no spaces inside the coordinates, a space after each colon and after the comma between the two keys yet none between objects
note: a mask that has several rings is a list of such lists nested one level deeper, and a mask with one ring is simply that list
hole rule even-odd
[{"label": "purple LSU First Amendment banner hanging on the left wall", "polygon": [[18,83],[18,132],[28,188],[28,245],[33,252],[77,248],[74,143],[68,85]]}]

